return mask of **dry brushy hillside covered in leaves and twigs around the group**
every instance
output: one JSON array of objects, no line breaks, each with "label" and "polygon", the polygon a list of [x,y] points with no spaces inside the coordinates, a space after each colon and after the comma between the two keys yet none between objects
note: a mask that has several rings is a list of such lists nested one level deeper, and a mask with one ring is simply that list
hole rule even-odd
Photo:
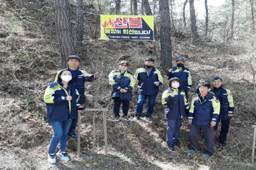
[{"label": "dry brushy hillside covered in leaves and twigs around the group", "polygon": [[[209,158],[202,153],[189,154],[190,125],[184,120],[180,132],[181,147],[171,152],[166,145],[166,121],[161,105],[166,80],[160,88],[153,121],[145,119],[129,124],[113,120],[113,102],[108,74],[125,59],[131,63],[131,72],[141,67],[147,57],[156,59],[159,67],[157,41],[97,40],[86,34],[80,47],[80,69],[100,72],[94,82],[86,83],[86,107],[108,108],[108,155],[104,155],[102,116],[95,117],[97,154],[92,154],[93,113],[83,112],[81,120],[81,152],[76,155],[76,140],[68,138],[67,153],[70,162],[47,162],[47,150],[52,138],[51,125],[46,121],[43,101],[47,84],[53,81],[60,65],[58,42],[54,35],[52,1],[2,1],[0,7],[0,169],[256,169],[251,164],[252,125],[255,122],[255,90],[253,64],[248,53],[250,42],[232,45],[203,41],[191,45],[190,39],[172,37],[173,58],[187,55],[186,67],[191,69],[193,90],[199,79],[214,76],[224,79],[235,101],[235,116],[231,119],[227,144],[215,145]],[[254,46],[252,46],[254,48]],[[173,63],[174,65],[175,63]],[[193,92],[190,93],[190,98]],[[95,101],[97,99],[97,101]],[[132,117],[138,100],[136,88],[130,104]],[[217,136],[220,128],[214,134]],[[202,148],[205,144],[200,141]]]}]

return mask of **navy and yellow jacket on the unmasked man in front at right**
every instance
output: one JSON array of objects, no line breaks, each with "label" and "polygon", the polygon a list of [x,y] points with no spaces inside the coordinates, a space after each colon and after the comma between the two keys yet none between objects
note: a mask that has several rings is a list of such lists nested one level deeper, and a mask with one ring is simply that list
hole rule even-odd
[{"label": "navy and yellow jacket on the unmasked man in front at right", "polygon": [[194,95],[189,110],[189,119],[193,119],[194,125],[211,125],[211,121],[217,121],[220,114],[220,101],[212,94],[201,101],[198,94]]}]

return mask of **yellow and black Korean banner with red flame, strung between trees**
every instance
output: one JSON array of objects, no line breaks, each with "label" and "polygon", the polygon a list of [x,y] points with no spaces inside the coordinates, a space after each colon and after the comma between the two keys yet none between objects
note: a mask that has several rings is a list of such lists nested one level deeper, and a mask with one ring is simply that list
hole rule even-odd
[{"label": "yellow and black Korean banner with red flame, strung between trees", "polygon": [[100,39],[154,40],[154,16],[100,15]]}]

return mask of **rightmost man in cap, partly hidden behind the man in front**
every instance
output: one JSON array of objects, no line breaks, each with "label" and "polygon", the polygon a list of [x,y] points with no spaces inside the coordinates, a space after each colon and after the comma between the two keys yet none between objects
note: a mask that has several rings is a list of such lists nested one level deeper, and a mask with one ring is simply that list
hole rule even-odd
[{"label": "rightmost man in cap, partly hidden behind the man in front", "polygon": [[234,102],[231,91],[222,87],[221,77],[213,77],[212,85],[213,88],[210,90],[210,92],[214,93],[221,103],[220,117],[218,117],[217,123],[214,126],[214,130],[218,129],[218,123],[221,120],[221,132],[220,136],[218,137],[218,145],[221,146],[224,145],[225,141],[227,140],[230,119],[234,114]]}]

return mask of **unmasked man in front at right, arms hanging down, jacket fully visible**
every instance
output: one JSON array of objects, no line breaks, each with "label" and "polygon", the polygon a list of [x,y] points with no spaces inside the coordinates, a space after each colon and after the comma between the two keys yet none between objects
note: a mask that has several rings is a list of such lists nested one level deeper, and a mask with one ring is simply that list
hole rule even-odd
[{"label": "unmasked man in front at right, arms hanging down, jacket fully visible", "polygon": [[198,86],[199,93],[192,98],[188,117],[188,123],[191,125],[189,138],[195,149],[190,149],[188,152],[194,153],[196,150],[201,150],[197,136],[202,131],[207,147],[203,157],[209,158],[214,153],[213,131],[220,114],[220,102],[216,96],[209,93],[211,84],[200,82]]}]

